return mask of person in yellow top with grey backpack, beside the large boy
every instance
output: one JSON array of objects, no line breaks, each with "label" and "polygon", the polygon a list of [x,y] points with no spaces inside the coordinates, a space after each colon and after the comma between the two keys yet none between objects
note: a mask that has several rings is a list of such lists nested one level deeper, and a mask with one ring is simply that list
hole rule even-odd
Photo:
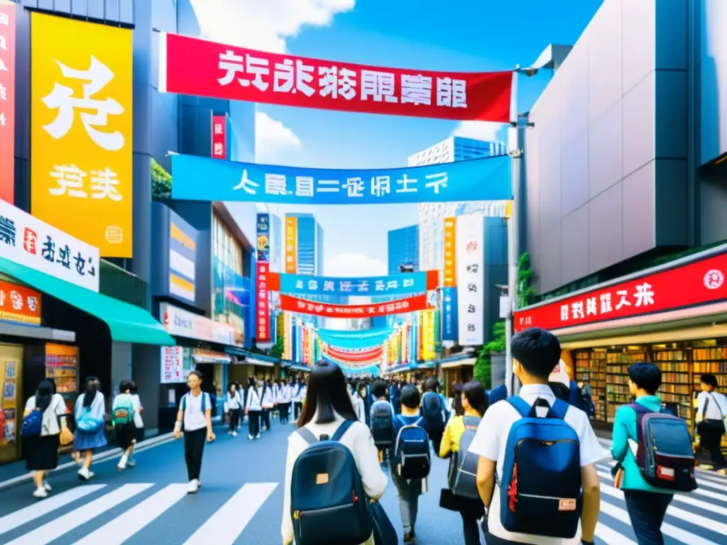
[{"label": "person in yellow top with grey backpack, beside the large boy", "polygon": [[461,390],[459,404],[462,415],[453,416],[447,423],[439,448],[440,458],[449,458],[448,486],[441,492],[439,506],[462,515],[465,545],[480,545],[480,528],[477,521],[485,514],[477,490],[478,456],[469,452],[477,429],[487,409],[487,395],[480,382],[458,384]]}]

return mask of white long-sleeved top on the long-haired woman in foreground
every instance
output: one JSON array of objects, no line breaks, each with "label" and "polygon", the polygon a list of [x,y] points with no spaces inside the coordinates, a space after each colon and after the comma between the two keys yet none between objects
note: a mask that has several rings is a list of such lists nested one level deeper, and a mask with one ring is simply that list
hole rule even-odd
[{"label": "white long-sleeved top on the long-haired woman in foreground", "polygon": [[[315,424],[317,418],[313,416],[313,420],[305,427],[308,428],[313,435],[321,437],[321,435],[333,436],[338,427],[342,424],[341,416],[336,415],[336,420],[328,424]],[[361,473],[361,480],[364,483],[366,496],[373,499],[379,499],[386,490],[386,475],[379,464],[379,451],[374,445],[374,439],[371,437],[371,430],[366,424],[354,422],[350,428],[341,437],[340,443],[348,448],[356,460],[356,467]],[[293,520],[290,517],[290,486],[293,478],[293,465],[305,449],[308,448],[308,442],[294,432],[288,437],[288,456],[285,463],[285,496],[283,501],[283,525],[281,528],[283,534],[283,543],[293,541]]]}]

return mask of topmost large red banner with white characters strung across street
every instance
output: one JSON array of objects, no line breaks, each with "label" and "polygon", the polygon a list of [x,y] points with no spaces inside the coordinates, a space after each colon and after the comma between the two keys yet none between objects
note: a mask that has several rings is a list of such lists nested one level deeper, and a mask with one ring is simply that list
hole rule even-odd
[{"label": "topmost large red banner with white characters strung across street", "polygon": [[159,91],[459,121],[510,121],[513,71],[435,72],[278,55],[159,36]]}]

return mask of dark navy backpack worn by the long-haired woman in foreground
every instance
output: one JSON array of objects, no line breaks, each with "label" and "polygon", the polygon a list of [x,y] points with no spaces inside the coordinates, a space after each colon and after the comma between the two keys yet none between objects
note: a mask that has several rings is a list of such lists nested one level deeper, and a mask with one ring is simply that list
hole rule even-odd
[{"label": "dark navy backpack worn by the long-haired woman in foreground", "polygon": [[296,545],[359,545],[374,531],[374,518],[353,454],[339,443],[353,421],[320,440],[302,427],[308,443],[293,465],[290,514]]}]

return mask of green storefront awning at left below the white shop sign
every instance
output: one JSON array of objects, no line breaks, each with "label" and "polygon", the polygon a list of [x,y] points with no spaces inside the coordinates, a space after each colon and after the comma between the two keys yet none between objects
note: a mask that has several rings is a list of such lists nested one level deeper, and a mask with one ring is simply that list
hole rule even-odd
[{"label": "green storefront awning at left below the white shop sign", "polygon": [[175,344],[161,323],[158,323],[149,312],[133,304],[97,294],[95,291],[59,280],[2,257],[0,257],[0,273],[12,276],[32,288],[102,320],[111,331],[111,339],[114,341],[158,346]]}]

